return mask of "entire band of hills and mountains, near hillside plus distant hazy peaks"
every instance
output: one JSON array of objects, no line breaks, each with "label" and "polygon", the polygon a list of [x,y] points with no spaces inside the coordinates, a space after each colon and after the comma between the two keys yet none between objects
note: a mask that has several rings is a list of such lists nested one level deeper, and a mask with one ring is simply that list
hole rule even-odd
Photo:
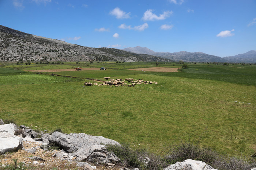
[{"label": "entire band of hills and mountains, near hillside plus distant hazy peaks", "polygon": [[83,47],[65,41],[24,33],[0,25],[0,61],[159,61],[256,63],[256,51],[218,57],[203,52],[155,52],[146,47]]}]

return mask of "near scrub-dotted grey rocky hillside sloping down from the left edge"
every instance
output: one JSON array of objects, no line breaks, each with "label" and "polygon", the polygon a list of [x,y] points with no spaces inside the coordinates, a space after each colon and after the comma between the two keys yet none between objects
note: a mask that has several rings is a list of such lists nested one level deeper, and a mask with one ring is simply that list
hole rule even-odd
[{"label": "near scrub-dotted grey rocky hillside sloping down from the left edge", "polygon": [[0,25],[0,61],[168,61],[113,48],[91,48],[31,35]]}]

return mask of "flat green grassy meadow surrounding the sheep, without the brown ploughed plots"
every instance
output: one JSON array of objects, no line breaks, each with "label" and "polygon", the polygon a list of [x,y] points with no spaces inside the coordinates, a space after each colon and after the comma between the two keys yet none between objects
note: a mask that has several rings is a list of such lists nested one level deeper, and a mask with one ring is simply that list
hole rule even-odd
[{"label": "flat green grassy meadow surrounding the sheep, without the brown ploughed plots", "polygon": [[[53,72],[76,78],[25,71],[75,67],[108,69]],[[188,63],[179,72],[128,70],[144,67],[155,63],[6,63],[0,67],[0,119],[39,130],[101,135],[158,153],[199,138],[201,146],[220,154],[250,157],[256,153],[255,65]],[[181,68],[181,64],[159,63],[158,67]],[[83,87],[84,82],[93,82],[87,78],[103,80],[104,76],[158,84]]]}]

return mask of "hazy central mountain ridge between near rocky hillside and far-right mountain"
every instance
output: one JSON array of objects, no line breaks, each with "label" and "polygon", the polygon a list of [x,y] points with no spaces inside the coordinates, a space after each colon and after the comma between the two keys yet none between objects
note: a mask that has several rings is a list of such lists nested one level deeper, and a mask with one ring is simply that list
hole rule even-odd
[{"label": "hazy central mountain ridge between near rocky hillside and far-right mountain", "polygon": [[146,47],[128,47],[124,48],[124,51],[130,51],[138,54],[148,54],[154,55],[174,61],[182,60],[184,62],[226,62],[224,59],[218,56],[205,54],[203,52],[187,52],[187,51],[180,51],[180,52],[155,52],[150,50]]}]

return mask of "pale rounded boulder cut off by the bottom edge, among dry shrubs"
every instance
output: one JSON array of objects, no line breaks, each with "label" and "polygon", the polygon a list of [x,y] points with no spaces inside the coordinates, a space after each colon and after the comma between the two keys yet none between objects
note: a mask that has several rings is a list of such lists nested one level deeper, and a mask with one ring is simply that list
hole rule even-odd
[{"label": "pale rounded boulder cut off by the bottom edge, among dry shrubs", "polygon": [[183,162],[177,162],[173,165],[170,165],[164,170],[217,170],[217,169],[213,169],[210,165],[207,165],[202,161],[187,159]]}]

